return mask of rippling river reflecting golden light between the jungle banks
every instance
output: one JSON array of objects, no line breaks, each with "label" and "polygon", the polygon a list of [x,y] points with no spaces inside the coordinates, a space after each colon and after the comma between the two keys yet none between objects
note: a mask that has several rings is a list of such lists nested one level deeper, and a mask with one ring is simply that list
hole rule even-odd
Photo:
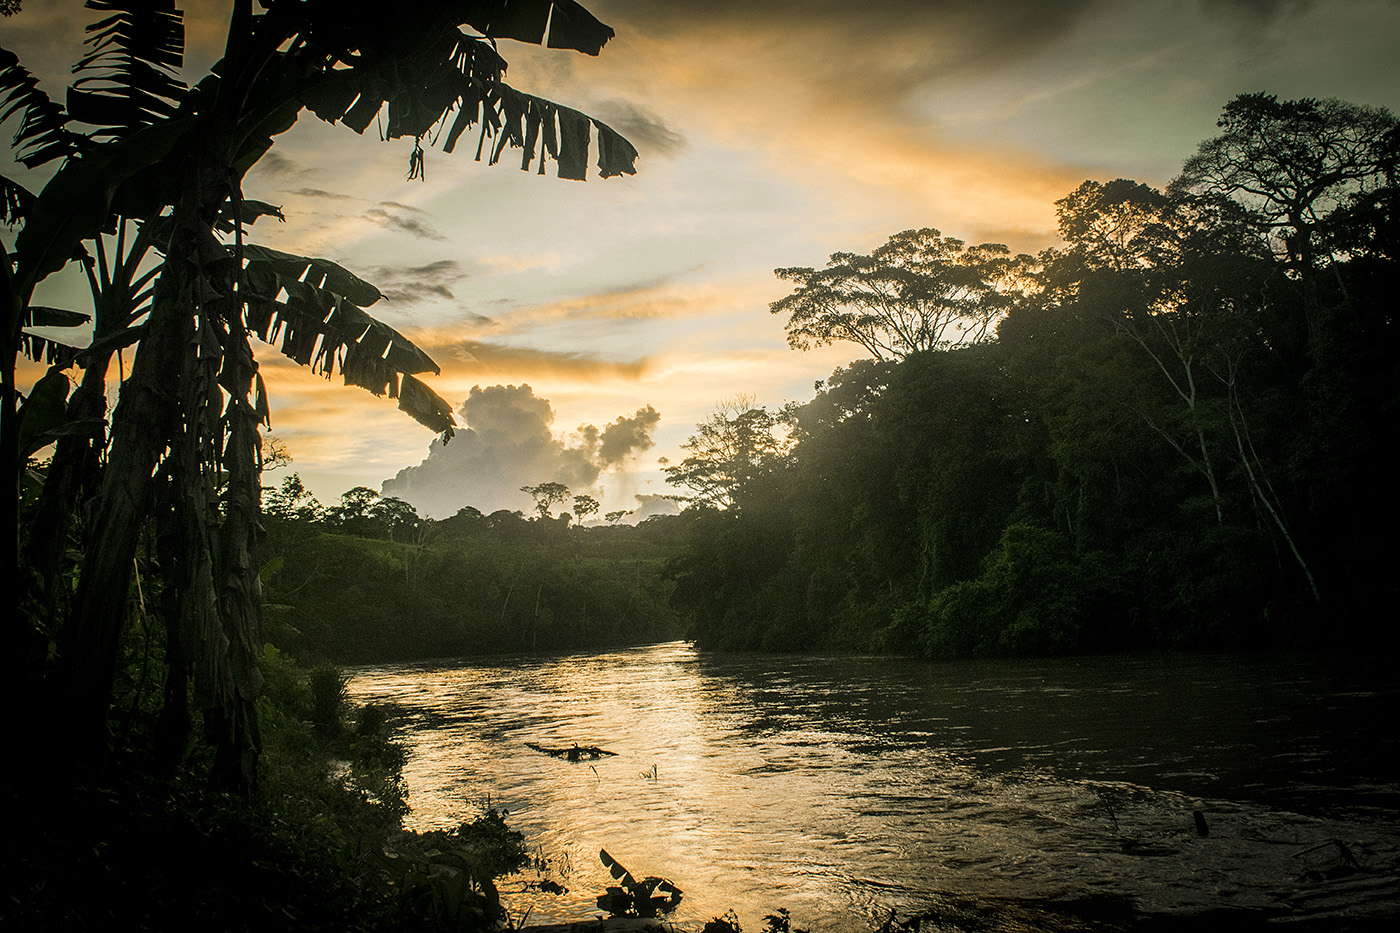
[{"label": "rippling river reflecting golden light between the jungle banks", "polygon": [[567,894],[503,885],[531,923],[598,913],[599,849],[679,885],[682,925],[734,909],[750,932],[776,908],[858,930],[949,898],[1400,915],[1400,681],[1380,665],[671,643],[351,674],[405,717],[412,828],[505,808],[549,860]]}]

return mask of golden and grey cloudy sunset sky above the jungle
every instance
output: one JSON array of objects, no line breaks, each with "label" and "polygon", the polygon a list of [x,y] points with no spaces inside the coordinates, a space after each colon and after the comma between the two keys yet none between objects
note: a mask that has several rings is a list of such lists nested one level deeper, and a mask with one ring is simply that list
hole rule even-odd
[{"label": "golden and grey cloudy sunset sky above the jungle", "polygon": [[[62,98],[95,14],[24,6],[0,45]],[[230,4],[183,6],[190,64],[207,66]],[[629,136],[636,177],[540,178],[463,146],[430,150],[426,181],[407,181],[410,140],[304,115],[246,179],[287,216],[253,241],[378,284],[389,300],[371,312],[442,367],[428,382],[454,405],[472,396],[480,430],[435,452],[413,495],[391,489],[435,517],[526,509],[517,488],[554,479],[631,509],[675,492],[658,458],[679,459],[721,399],[811,398],[860,350],[788,349],[767,311],[788,291],[774,268],[910,227],[1035,252],[1056,241],[1058,198],[1086,178],[1166,184],[1240,92],[1400,106],[1400,3],[1386,0],[585,6],[617,32],[601,56],[507,42],[508,80]],[[38,301],[81,307],[62,283]],[[270,347],[259,359],[273,433],[323,503],[427,457],[431,433],[392,402]]]}]

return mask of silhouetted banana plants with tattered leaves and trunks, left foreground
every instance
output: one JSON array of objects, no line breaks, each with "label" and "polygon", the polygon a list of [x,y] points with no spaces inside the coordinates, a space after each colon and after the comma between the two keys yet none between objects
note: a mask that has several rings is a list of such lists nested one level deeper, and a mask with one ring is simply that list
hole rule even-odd
[{"label": "silhouetted banana plants with tattered leaves and trunks, left foreground", "polygon": [[[57,630],[64,710],[77,730],[73,748],[98,758],[106,745],[126,614],[119,594],[127,591],[137,539],[158,500],[169,510],[155,513],[168,516],[160,532],[169,548],[161,573],[172,608],[167,744],[183,747],[183,678],[193,671],[218,748],[218,780],[246,786],[258,749],[252,544],[259,424],[267,419],[249,338],[276,342],[325,375],[339,368],[347,382],[398,398],[445,437],[452,417],[416,378],[435,373],[433,361],[364,312],[379,297],[377,289],[335,263],[245,242],[246,226],[276,209],[245,199],[241,179],[302,109],[363,133],[385,105],[384,134],[414,139],[410,177],[424,171],[424,136],[441,137],[452,151],[470,127],[477,127],[476,157],[491,163],[515,147],[524,150],[522,168],[538,160],[543,172],[553,160],[561,178],[581,179],[594,143],[599,175],[630,174],[636,150],[624,139],[504,84],[497,50],[497,41],[518,39],[596,55],[613,32],[573,0],[424,0],[403,8],[367,0],[263,0],[260,13],[252,0],[235,0],[224,57],[186,87],[178,77],[183,24],[174,0],[90,0],[88,7],[105,18],[91,29],[92,48],[77,66],[69,111],[0,50],[0,113],[20,118],[21,163],[64,160],[35,198],[4,182],[6,217],[22,223],[15,254],[0,255],[6,485],[18,489],[21,464],[15,354],[59,353],[24,332],[52,317],[31,308],[34,289],[92,244],[101,269],[98,310],[111,304],[116,311],[102,315],[105,325],[99,319],[101,339],[87,356],[105,363],[116,347],[139,346],[111,438],[91,441],[106,452],[105,471],[91,503],[70,619]],[[91,129],[78,132],[78,125]],[[112,230],[122,276],[108,275],[102,235]],[[129,230],[136,233],[127,249]],[[136,276],[153,248],[161,255],[158,272]],[[137,312],[146,315],[140,324]],[[4,497],[10,542],[15,499]],[[3,556],[14,566],[17,545]],[[39,629],[57,626],[11,635],[32,643],[46,637]]]}]

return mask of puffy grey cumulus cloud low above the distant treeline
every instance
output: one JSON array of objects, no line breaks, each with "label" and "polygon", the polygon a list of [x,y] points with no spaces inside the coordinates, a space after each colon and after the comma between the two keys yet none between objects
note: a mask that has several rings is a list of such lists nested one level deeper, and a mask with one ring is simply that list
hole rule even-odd
[{"label": "puffy grey cumulus cloud low above the distant treeline", "polygon": [[[449,444],[433,441],[427,458],[384,483],[385,496],[398,496],[420,514],[445,518],[463,506],[490,513],[498,509],[528,509],[531,497],[521,486],[564,483],[582,493],[599,474],[615,464],[599,454],[602,437],[617,424],[640,419],[619,417],[603,431],[585,424],[581,441],[568,444],[553,436],[554,409],[529,385],[476,385],[462,402],[466,429]],[[659,415],[655,420],[659,420]],[[652,427],[655,420],[651,422]],[[650,431],[627,433],[631,448],[651,445]],[[622,441],[619,441],[622,443]]]}]

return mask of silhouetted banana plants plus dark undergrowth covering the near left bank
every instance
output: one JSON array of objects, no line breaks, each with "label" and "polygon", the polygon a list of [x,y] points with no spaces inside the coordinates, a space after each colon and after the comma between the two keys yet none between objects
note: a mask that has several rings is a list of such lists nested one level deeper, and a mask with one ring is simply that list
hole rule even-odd
[{"label": "silhouetted banana plants plus dark undergrowth covering the near left bank", "polygon": [[[0,15],[64,15],[36,6],[6,0]],[[631,174],[626,139],[508,85],[500,52],[598,55],[613,31],[574,0],[419,0],[392,15],[232,0],[200,76],[174,0],[85,7],[56,97],[0,48],[14,156],[0,175],[0,706],[28,762],[0,779],[0,927],[494,927],[494,878],[524,863],[519,834],[496,813],[403,832],[386,713],[349,710],[335,668],[298,668],[266,640],[322,653],[263,626],[262,577],[277,574],[253,338],[444,437],[454,420],[419,378],[435,363],[365,311],[384,297],[374,284],[253,242],[281,212],[245,198],[244,178],[305,115],[412,140],[412,178],[424,140],[451,153],[468,130],[463,148],[491,164],[514,148],[542,175]],[[63,270],[90,303],[36,301]],[[29,387],[21,357],[48,364]],[[336,548],[308,544],[284,573],[301,555],[358,553]],[[550,584],[532,580],[546,628]],[[609,598],[622,597],[598,591]]]}]

